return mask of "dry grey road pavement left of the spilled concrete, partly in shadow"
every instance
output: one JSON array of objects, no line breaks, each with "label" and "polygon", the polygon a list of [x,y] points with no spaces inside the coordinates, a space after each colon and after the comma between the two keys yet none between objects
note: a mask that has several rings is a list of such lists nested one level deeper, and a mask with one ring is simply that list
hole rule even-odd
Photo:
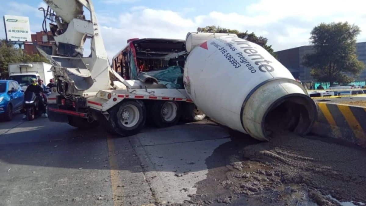
[{"label": "dry grey road pavement left of the spilled concrete, partly in shadow", "polygon": [[210,121],[121,138],[19,114],[0,134],[0,205],[183,203],[234,151],[229,130]]}]

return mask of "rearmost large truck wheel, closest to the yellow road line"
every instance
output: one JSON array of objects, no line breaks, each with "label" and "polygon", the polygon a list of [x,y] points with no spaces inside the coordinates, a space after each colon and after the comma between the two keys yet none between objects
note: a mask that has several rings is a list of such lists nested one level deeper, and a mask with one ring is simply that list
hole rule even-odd
[{"label": "rearmost large truck wheel, closest to the yellow road line", "polygon": [[142,101],[127,100],[109,110],[108,132],[120,136],[137,134],[146,122],[146,107]]}]

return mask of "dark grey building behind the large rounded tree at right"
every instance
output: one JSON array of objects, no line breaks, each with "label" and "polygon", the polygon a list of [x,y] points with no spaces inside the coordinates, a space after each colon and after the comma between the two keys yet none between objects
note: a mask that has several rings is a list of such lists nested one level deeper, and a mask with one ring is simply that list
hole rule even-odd
[{"label": "dark grey building behind the large rounded tree at right", "polygon": [[[366,65],[366,42],[356,44],[357,59]],[[313,46],[302,46],[291,49],[285,49],[275,52],[278,60],[287,67],[295,78],[301,81],[313,81],[310,75],[310,68],[303,66],[304,56],[314,53]],[[366,81],[366,67],[356,81]]]}]

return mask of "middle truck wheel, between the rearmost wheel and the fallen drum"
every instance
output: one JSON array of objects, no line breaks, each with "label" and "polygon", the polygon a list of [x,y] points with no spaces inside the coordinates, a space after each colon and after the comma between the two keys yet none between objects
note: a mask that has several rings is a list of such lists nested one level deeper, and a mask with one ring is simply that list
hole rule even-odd
[{"label": "middle truck wheel, between the rearmost wheel and the fallen drum", "polygon": [[152,123],[160,128],[176,125],[182,114],[180,103],[176,101],[156,101],[150,110]]}]

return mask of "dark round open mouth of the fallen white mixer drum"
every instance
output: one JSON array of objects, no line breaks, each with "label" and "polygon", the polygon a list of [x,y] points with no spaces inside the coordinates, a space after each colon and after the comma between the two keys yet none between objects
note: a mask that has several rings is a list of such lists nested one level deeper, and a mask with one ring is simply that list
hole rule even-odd
[{"label": "dark round open mouth of the fallen white mixer drum", "polygon": [[316,106],[309,96],[286,95],[268,108],[262,130],[268,139],[273,133],[283,131],[305,135],[313,125],[315,116]]}]

